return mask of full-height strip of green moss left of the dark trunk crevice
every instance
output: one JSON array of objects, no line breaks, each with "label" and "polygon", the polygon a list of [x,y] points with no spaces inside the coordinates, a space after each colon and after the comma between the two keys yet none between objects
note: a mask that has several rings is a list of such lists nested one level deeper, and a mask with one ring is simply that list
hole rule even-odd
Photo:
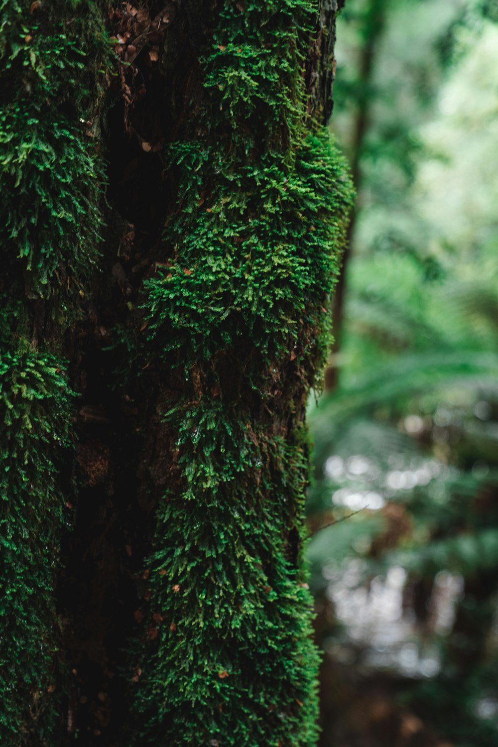
[{"label": "full-height strip of green moss left of the dark trunk crevice", "polygon": [[67,313],[64,298],[78,297],[99,258],[103,168],[92,120],[106,55],[92,3],[0,0],[0,742],[7,747],[60,743],[55,580],[69,518],[61,473],[65,465],[69,484],[72,391],[58,347],[78,313],[74,297]]}]

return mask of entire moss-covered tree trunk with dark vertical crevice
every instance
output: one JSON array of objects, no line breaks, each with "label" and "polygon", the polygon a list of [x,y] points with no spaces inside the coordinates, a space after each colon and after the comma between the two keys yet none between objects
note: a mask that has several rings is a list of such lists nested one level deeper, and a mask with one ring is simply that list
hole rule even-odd
[{"label": "entire moss-covered tree trunk with dark vertical crevice", "polygon": [[336,12],[1,4],[2,744],[315,743]]}]

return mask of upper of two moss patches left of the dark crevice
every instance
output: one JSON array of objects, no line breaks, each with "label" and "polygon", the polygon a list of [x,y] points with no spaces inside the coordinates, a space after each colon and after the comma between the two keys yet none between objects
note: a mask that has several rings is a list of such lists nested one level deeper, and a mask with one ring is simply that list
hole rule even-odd
[{"label": "upper of two moss patches left of the dark crevice", "polygon": [[108,45],[99,20],[83,51],[84,19],[66,22],[64,4],[50,13],[45,3],[33,13],[29,5],[3,6],[0,190],[8,199],[1,202],[0,241],[4,261],[21,260],[29,292],[48,297],[53,288],[81,288],[99,257],[95,67]]}]

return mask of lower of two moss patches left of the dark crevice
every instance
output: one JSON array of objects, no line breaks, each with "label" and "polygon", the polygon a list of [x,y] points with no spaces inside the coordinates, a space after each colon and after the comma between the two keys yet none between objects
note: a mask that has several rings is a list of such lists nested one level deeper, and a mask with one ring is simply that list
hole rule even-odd
[{"label": "lower of two moss patches left of the dark crevice", "polygon": [[56,478],[69,447],[70,399],[58,359],[1,354],[0,740],[9,747],[41,744],[56,719],[53,594],[66,503]]}]

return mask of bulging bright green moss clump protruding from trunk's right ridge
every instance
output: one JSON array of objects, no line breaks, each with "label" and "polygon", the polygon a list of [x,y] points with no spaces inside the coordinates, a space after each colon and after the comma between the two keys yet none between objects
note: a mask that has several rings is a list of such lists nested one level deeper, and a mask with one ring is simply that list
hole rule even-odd
[{"label": "bulging bright green moss clump protruding from trunk's right ridge", "polygon": [[[176,351],[173,360],[188,370],[243,338],[264,365],[279,364],[302,341],[303,328],[313,327],[325,335],[325,350],[324,306],[352,196],[343,158],[326,132],[300,143],[292,169],[264,156],[235,171],[221,153],[210,154],[201,143],[175,149],[182,209],[166,232],[175,259],[145,286],[156,349],[169,361]],[[202,200],[209,185],[211,197]]]}]

